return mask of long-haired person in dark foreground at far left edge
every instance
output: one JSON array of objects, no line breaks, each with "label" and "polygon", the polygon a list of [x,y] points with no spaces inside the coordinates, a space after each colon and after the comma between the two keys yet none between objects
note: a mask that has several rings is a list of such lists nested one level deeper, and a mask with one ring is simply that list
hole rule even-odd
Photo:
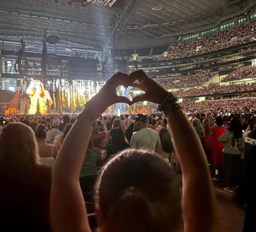
[{"label": "long-haired person in dark foreground at far left edge", "polygon": [[0,135],[0,218],[4,231],[49,232],[51,167],[37,162],[33,130],[19,122]]}]

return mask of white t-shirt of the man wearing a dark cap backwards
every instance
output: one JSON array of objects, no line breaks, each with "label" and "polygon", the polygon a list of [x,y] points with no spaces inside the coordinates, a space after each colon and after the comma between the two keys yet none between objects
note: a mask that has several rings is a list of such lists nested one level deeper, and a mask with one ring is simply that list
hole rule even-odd
[{"label": "white t-shirt of the man wearing a dark cap backwards", "polygon": [[143,128],[132,135],[130,147],[154,151],[156,150],[156,144],[160,143],[160,137],[155,130]]}]

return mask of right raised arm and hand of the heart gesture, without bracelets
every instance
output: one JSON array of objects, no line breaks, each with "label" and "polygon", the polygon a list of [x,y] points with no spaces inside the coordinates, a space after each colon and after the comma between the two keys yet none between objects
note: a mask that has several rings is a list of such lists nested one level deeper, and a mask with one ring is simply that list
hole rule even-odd
[{"label": "right raised arm and hand of the heart gesture, without bracelets", "polygon": [[[136,96],[133,101],[148,100],[163,103],[168,92],[147,77],[142,70],[130,74],[132,80],[138,80],[134,86],[145,94]],[[164,103],[164,104],[167,104]],[[170,106],[170,102],[168,102]],[[216,199],[210,178],[209,167],[199,137],[180,109],[173,112],[165,110],[169,132],[181,164],[182,211],[184,232],[213,232],[216,229]]]}]

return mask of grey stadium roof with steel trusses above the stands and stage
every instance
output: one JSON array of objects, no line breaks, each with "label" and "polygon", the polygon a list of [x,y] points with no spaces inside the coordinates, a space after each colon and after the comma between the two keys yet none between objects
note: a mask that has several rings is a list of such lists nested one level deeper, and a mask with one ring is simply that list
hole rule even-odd
[{"label": "grey stadium roof with steel trusses above the stands and stage", "polygon": [[[70,4],[74,1],[73,4]],[[106,49],[118,37],[182,36],[255,10],[256,0],[1,0],[0,39]],[[82,5],[81,5],[82,4]]]}]

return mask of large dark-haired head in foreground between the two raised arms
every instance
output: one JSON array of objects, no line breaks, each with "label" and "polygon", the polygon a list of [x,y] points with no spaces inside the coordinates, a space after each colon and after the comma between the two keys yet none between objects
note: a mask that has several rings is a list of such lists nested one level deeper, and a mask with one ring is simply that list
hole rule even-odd
[{"label": "large dark-haired head in foreground between the two raised arms", "polygon": [[104,166],[95,187],[101,231],[181,231],[180,187],[177,174],[154,152],[122,151]]}]

